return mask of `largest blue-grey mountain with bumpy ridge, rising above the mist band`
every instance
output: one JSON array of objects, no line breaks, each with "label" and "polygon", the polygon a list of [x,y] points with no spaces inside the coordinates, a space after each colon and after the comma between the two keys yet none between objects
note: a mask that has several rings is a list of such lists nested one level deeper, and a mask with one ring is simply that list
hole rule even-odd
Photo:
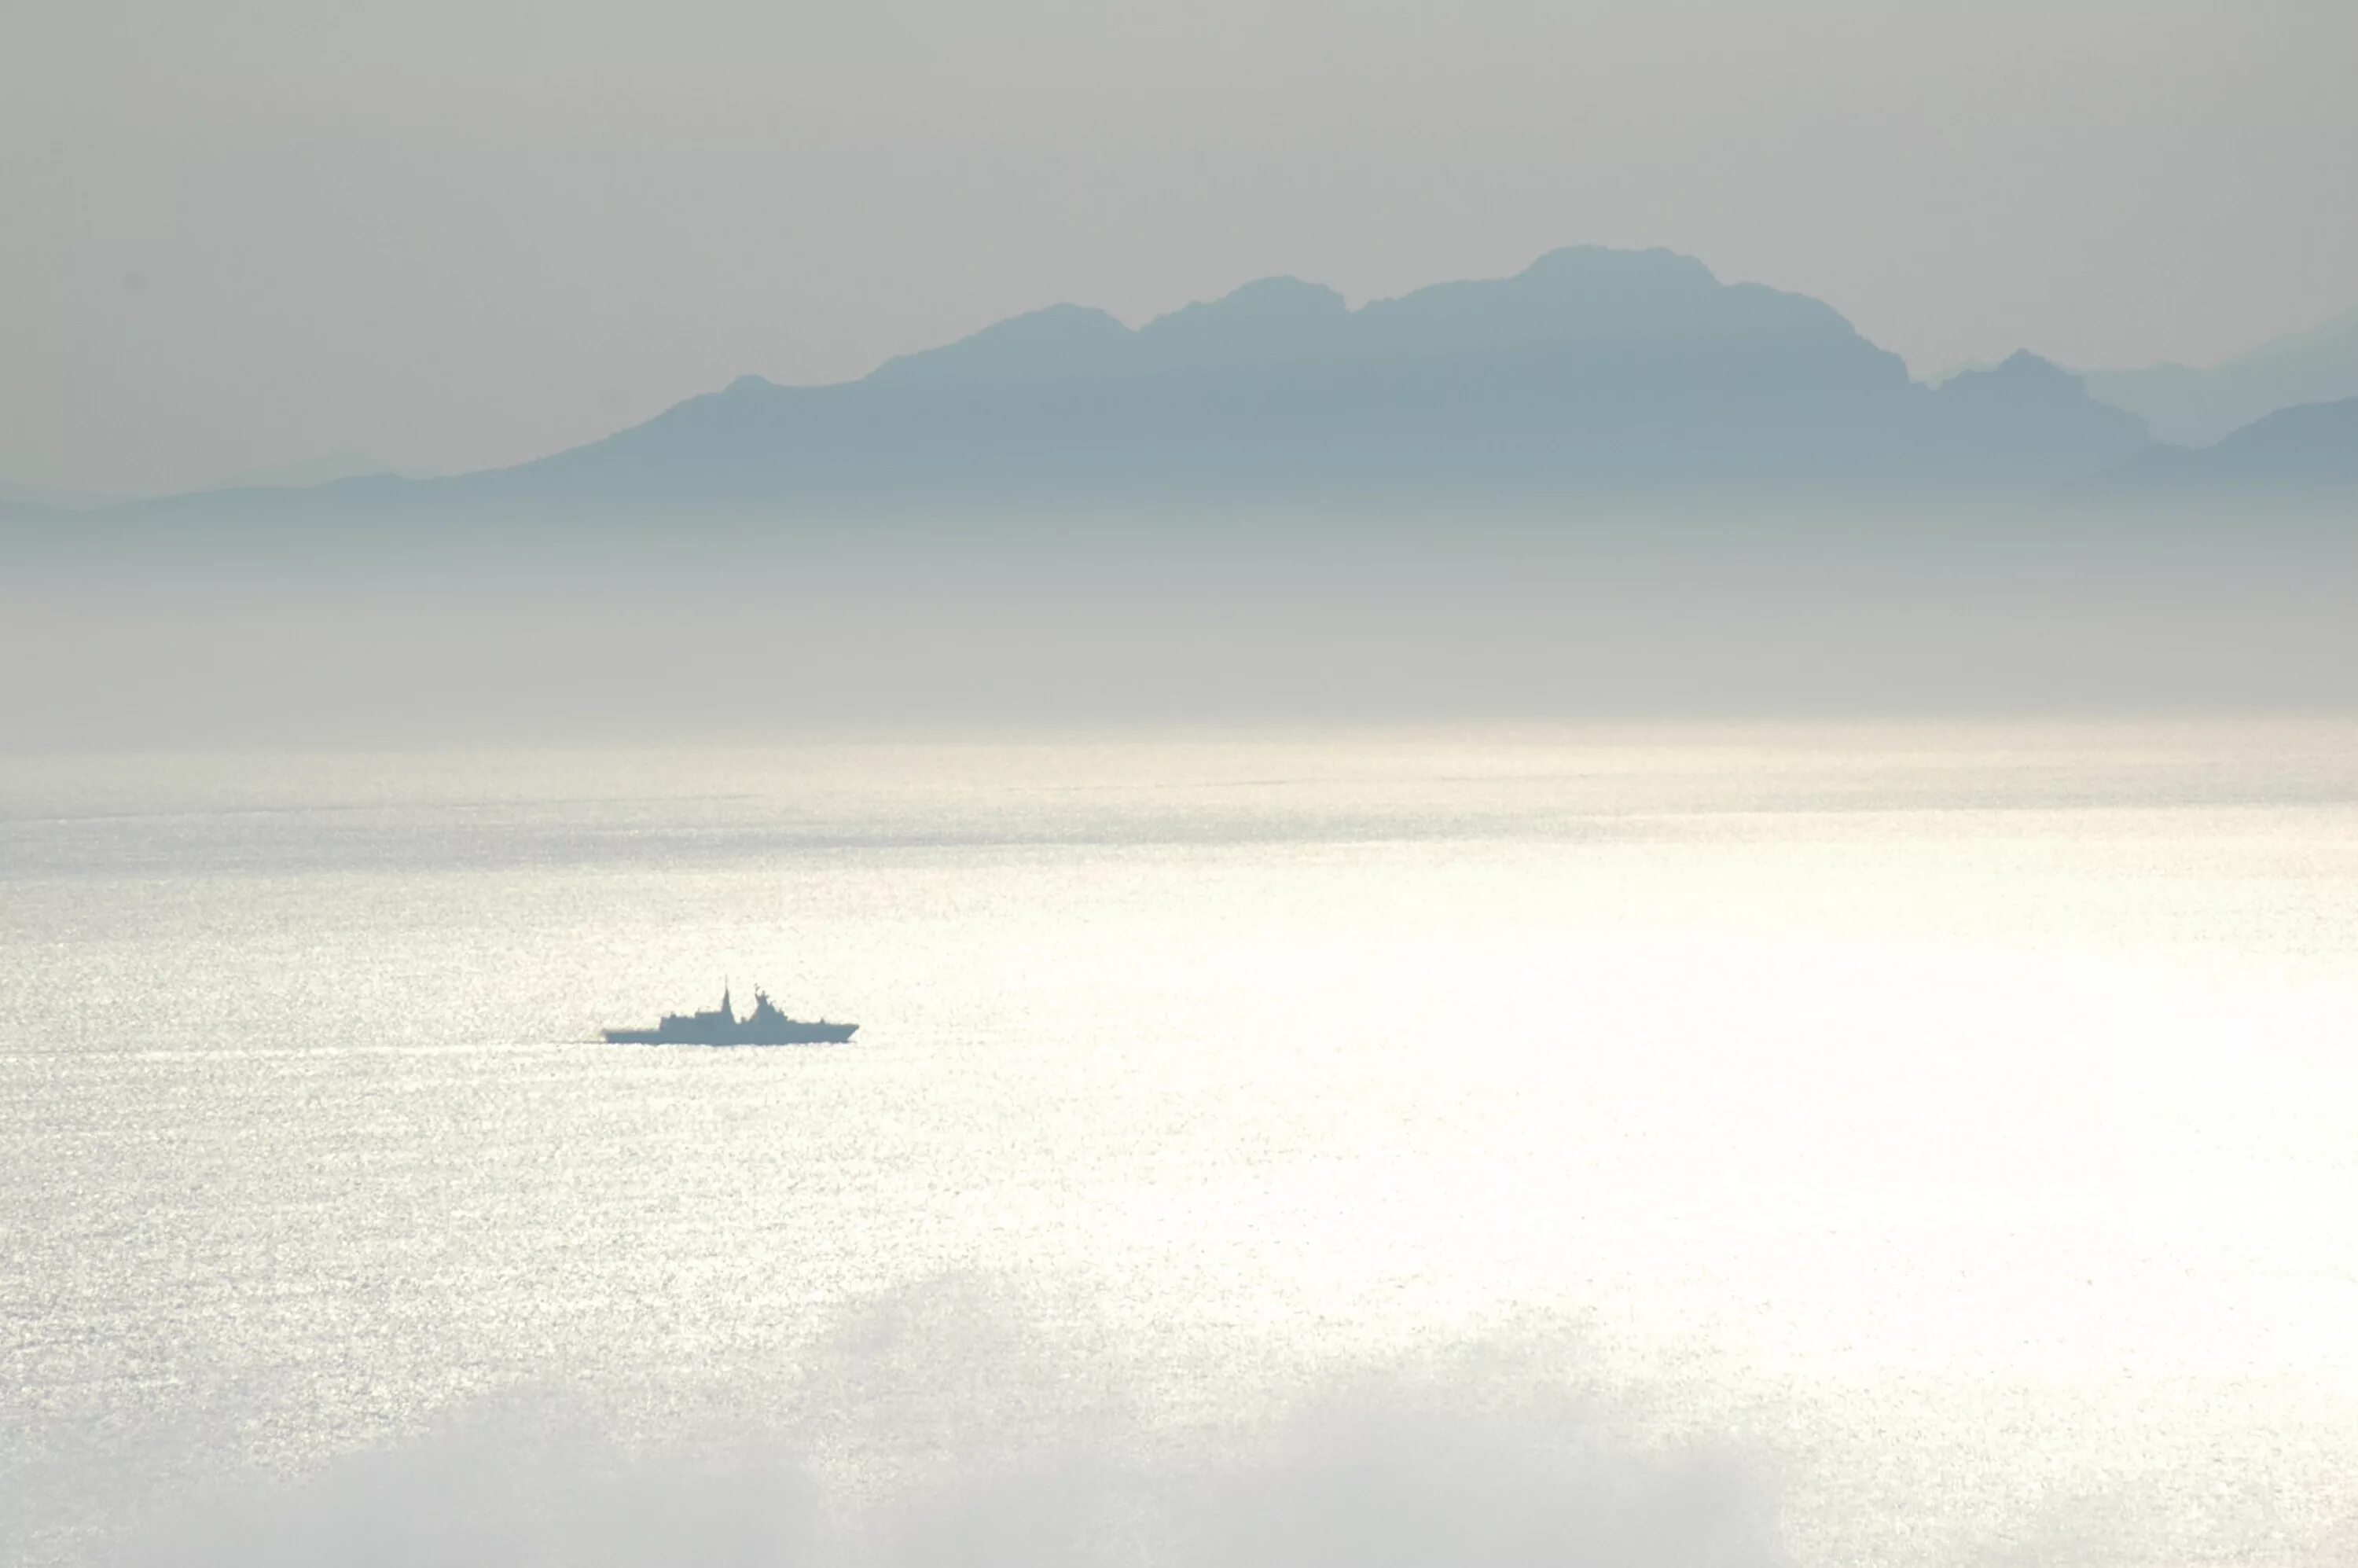
[{"label": "largest blue-grey mountain with bumpy ridge, rising above the mist band", "polygon": [[1728,285],[1667,250],[1580,248],[1511,278],[1361,309],[1297,278],[1139,330],[1061,304],[858,382],[747,375],[512,469],[160,509],[646,516],[2037,493],[2143,446],[2132,415],[2028,354],[1934,391],[1818,299]]}]

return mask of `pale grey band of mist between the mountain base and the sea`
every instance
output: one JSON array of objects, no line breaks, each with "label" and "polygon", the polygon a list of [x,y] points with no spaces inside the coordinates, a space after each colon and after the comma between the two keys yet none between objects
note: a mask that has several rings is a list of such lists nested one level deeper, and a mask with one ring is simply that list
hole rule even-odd
[{"label": "pale grey band of mist between the mountain base and the sea", "polygon": [[33,747],[1559,717],[2334,712],[2332,514],[632,519],[19,552]]}]

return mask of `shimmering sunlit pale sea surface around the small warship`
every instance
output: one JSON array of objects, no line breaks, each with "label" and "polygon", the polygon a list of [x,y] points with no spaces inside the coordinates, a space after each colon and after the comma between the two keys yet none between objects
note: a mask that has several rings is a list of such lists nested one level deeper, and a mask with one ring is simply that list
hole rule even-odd
[{"label": "shimmering sunlit pale sea surface around the small warship", "polygon": [[[724,983],[858,1040],[594,1042]],[[2358,724],[0,759],[0,1561],[1563,1422],[1681,1563],[2358,1561]]]}]

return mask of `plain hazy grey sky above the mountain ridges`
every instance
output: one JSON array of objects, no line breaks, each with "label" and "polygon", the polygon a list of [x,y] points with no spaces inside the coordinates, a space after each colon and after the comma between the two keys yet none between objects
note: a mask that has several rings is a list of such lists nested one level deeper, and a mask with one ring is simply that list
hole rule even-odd
[{"label": "plain hazy grey sky above the mountain ridges", "polygon": [[0,0],[0,479],[512,462],[1080,299],[1672,245],[1910,363],[2358,304],[2351,0]]}]

